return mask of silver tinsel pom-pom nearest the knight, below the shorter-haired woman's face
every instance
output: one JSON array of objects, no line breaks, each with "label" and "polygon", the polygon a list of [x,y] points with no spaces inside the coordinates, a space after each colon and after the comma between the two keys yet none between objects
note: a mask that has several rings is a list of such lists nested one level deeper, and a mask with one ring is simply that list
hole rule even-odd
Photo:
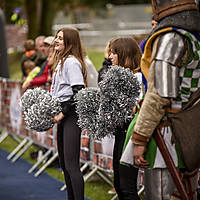
[{"label": "silver tinsel pom-pom nearest the knight, below the shorter-haired woman's face", "polygon": [[130,69],[112,66],[99,83],[99,88],[101,98],[97,134],[104,137],[131,121],[140,84]]}]

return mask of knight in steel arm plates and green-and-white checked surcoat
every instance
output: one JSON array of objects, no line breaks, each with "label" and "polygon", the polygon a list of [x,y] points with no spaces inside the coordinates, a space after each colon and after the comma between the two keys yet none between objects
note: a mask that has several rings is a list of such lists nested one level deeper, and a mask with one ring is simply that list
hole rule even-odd
[{"label": "knight in steel arm plates and green-and-white checked surcoat", "polygon": [[[136,165],[146,168],[145,199],[175,200],[180,194],[152,134],[168,112],[180,111],[200,87],[200,13],[195,0],[152,0],[152,8],[158,25],[141,61],[148,89],[132,135],[133,157]],[[188,197],[197,199],[198,169],[185,168],[171,126],[166,124],[161,132]]]}]

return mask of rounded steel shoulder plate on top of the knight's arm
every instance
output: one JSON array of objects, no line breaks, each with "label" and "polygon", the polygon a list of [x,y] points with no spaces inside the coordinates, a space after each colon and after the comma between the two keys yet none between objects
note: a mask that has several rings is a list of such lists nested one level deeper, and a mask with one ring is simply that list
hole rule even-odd
[{"label": "rounded steel shoulder plate on top of the knight's arm", "polygon": [[185,51],[183,36],[177,32],[165,33],[159,38],[154,59],[177,65]]}]

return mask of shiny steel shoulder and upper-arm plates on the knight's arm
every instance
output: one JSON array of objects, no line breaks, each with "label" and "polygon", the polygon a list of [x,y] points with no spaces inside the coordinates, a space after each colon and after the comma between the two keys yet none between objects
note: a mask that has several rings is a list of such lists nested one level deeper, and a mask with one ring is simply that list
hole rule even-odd
[{"label": "shiny steel shoulder and upper-arm plates on the knight's arm", "polygon": [[167,33],[160,37],[154,57],[155,88],[162,97],[177,97],[179,91],[179,68],[185,53],[184,41],[180,34]]}]

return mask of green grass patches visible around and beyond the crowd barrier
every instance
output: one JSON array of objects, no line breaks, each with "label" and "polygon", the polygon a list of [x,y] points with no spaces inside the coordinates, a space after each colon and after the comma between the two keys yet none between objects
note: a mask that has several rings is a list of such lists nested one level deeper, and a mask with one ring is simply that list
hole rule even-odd
[{"label": "green grass patches visible around and beyond the crowd barrier", "polygon": [[[104,53],[98,50],[88,50],[87,51],[89,58],[99,70],[102,66],[102,62],[104,60]],[[22,72],[20,66],[21,53],[13,53],[8,56],[9,58],[9,71],[10,71],[10,79],[12,80],[21,80]],[[11,152],[18,143],[11,137],[8,136],[2,143],[0,143],[0,148]],[[32,145],[22,156],[23,159],[28,162],[35,164],[35,160],[32,160],[30,157],[31,152],[37,151],[37,148]],[[40,167],[40,166],[39,166]],[[60,170],[56,168],[47,168],[45,170],[50,176],[62,181],[64,183],[64,177]],[[96,176],[95,176],[96,177]],[[109,200],[112,198],[112,195],[109,195],[107,192],[111,187],[105,183],[100,178],[92,178],[89,179],[85,183],[85,196],[90,198],[91,200]]]}]

